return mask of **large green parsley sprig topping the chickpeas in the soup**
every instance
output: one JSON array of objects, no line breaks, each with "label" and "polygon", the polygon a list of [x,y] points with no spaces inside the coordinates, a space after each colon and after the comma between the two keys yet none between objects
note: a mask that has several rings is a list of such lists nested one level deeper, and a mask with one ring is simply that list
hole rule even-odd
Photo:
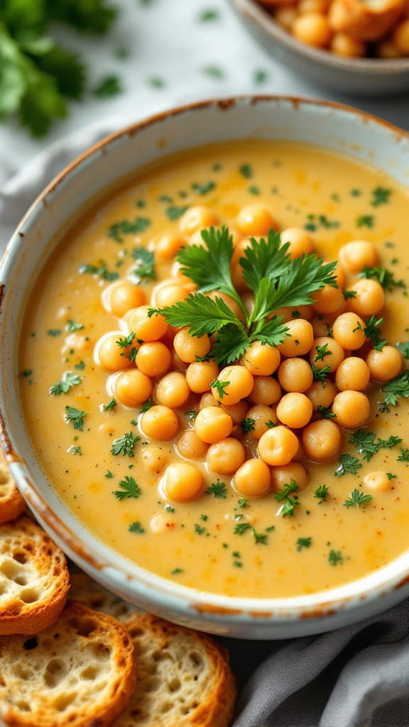
[{"label": "large green parsley sprig topping the chickpeas in the soup", "polygon": [[[256,340],[279,345],[287,336],[287,326],[274,311],[309,305],[314,292],[325,285],[336,287],[335,262],[324,263],[315,254],[291,260],[289,244],[282,245],[279,233],[270,230],[259,241],[251,238],[239,260],[243,278],[255,294],[249,313],[231,281],[233,241],[228,228],[210,228],[201,234],[203,246],[191,245],[178,253],[180,272],[196,283],[196,293],[175,305],[151,308],[148,315],[162,313],[167,323],[187,326],[192,336],[216,334],[211,356],[218,364],[233,363]],[[228,294],[237,303],[242,320],[220,297],[212,300],[205,295],[214,291]]]}]

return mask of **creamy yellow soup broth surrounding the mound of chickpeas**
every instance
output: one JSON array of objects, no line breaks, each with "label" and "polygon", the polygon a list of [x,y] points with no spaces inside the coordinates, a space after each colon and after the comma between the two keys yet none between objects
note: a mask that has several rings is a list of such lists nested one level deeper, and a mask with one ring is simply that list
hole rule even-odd
[{"label": "creamy yellow soup broth surrounding the mound of chickpeas", "polygon": [[[240,172],[243,164],[250,166],[250,178]],[[210,181],[214,187],[202,195],[192,188]],[[386,204],[373,206],[373,190],[379,186],[392,191]],[[194,150],[159,169],[148,169],[95,206],[63,238],[28,300],[20,342],[20,395],[45,475],[68,510],[102,542],[139,566],[188,587],[274,598],[350,582],[407,550],[409,462],[397,457],[408,446],[408,401],[400,398],[389,413],[378,414],[382,395],[379,386],[372,387],[368,430],[381,438],[397,435],[402,443],[381,449],[366,462],[357,446],[348,443],[351,433],[342,430],[341,451],[360,459],[362,467],[354,475],[335,477],[339,457],[321,465],[301,459],[309,484],[298,494],[301,505],[293,517],[282,517],[274,492],[248,498],[246,506],[239,507],[242,496],[229,477],[220,475],[226,499],[203,494],[188,504],[170,502],[158,487],[163,472],[152,474],[143,467],[150,444],[138,427],[140,407],[126,409],[118,403],[112,410],[102,409],[111,400],[109,374],[95,364],[93,350],[101,335],[120,330],[119,321],[101,302],[109,282],[79,273],[81,265],[100,267],[103,261],[108,271],[126,275],[134,267],[130,253],[135,245],[148,245],[160,230],[178,230],[178,220],[169,219],[170,207],[206,204],[221,222],[234,226],[239,210],[255,201],[269,207],[281,229],[314,228],[317,251],[327,260],[334,260],[348,241],[373,241],[381,265],[409,282],[408,193],[380,172],[318,148],[287,143],[239,142]],[[143,232],[124,233],[122,242],[108,235],[111,225],[137,217],[147,220]],[[159,280],[170,276],[170,268],[168,263],[156,265]],[[149,292],[153,283],[143,286]],[[408,340],[408,309],[405,289],[386,292],[382,330],[392,345]],[[84,327],[69,332],[68,321]],[[50,395],[49,387],[65,371],[79,374],[81,383],[68,393]],[[198,401],[199,395],[192,395],[183,409],[192,409]],[[87,412],[83,431],[65,422],[65,406]],[[179,414],[180,427],[190,427],[183,411]],[[140,436],[135,457],[111,454],[113,441],[130,431]],[[178,459],[173,443],[160,446],[167,464]],[[200,466],[206,486],[218,480],[203,463]],[[374,470],[396,475],[390,489],[370,491],[373,499],[363,507],[344,507],[352,490]],[[114,496],[125,475],[140,486],[138,499]],[[314,489],[322,484],[329,492],[327,501],[320,503]],[[130,531],[135,522],[143,532]],[[243,522],[262,534],[264,542],[256,542],[251,529],[234,534]],[[299,538],[311,538],[309,547],[298,550]]]}]

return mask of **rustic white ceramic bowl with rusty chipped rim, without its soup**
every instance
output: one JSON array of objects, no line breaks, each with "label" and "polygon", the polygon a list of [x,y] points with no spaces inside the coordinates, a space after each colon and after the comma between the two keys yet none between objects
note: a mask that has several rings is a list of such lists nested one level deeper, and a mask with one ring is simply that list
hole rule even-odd
[{"label": "rustic white ceramic bowl with rusty chipped rim, without its soup", "polygon": [[17,386],[17,343],[33,276],[73,220],[130,172],[207,142],[295,140],[344,152],[409,185],[409,135],[351,108],[287,97],[243,97],[176,109],[100,142],[65,169],[26,214],[0,268],[0,426],[12,474],[44,529],[84,571],[154,614],[239,638],[289,638],[359,621],[409,595],[409,553],[358,581],[299,598],[228,598],[162,579],[122,558],[76,521],[44,477]]}]

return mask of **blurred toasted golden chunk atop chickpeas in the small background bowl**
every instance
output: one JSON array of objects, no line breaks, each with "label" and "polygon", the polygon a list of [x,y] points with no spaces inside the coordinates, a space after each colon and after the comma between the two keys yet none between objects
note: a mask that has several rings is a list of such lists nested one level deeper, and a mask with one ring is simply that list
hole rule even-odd
[{"label": "blurred toasted golden chunk atop chickpeas in the small background bowl", "polygon": [[333,31],[362,41],[377,41],[405,12],[405,0],[334,0],[328,20]]}]

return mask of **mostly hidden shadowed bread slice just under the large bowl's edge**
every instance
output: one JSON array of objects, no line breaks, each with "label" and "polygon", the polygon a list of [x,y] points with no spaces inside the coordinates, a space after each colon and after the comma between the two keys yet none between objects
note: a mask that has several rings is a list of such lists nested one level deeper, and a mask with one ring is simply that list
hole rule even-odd
[{"label": "mostly hidden shadowed bread slice just under the large bowl's edge", "polygon": [[122,601],[113,593],[98,585],[86,573],[71,573],[71,585],[68,598],[84,603],[84,606],[113,616],[117,621],[124,621],[135,612],[135,606]]}]

